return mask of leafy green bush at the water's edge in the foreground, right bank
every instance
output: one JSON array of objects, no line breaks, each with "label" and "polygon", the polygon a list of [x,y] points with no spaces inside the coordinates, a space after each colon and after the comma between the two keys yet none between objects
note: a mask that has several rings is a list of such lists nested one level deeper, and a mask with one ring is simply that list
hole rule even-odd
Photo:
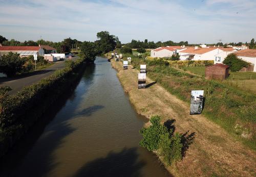
[{"label": "leafy green bush at the water's edge in the foreground, right bank", "polygon": [[182,136],[179,133],[173,134],[173,129],[167,130],[165,125],[160,123],[159,116],[152,116],[150,122],[150,127],[140,130],[143,136],[140,145],[150,151],[156,150],[167,165],[181,160]]}]

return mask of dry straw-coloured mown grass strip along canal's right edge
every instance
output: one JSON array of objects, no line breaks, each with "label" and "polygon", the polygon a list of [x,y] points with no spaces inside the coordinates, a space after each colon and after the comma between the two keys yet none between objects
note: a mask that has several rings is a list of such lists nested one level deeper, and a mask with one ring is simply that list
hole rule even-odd
[{"label": "dry straw-coloured mown grass strip along canal's right edge", "polygon": [[[122,69],[122,62],[111,61],[125,92],[141,115],[160,115],[165,122],[175,119],[176,131],[194,142],[176,166],[166,167],[177,176],[256,176],[256,153],[237,142],[203,115],[189,115],[189,105],[158,84],[138,89],[138,70]],[[147,84],[154,83],[147,77]],[[189,136],[190,135],[190,136]]]}]

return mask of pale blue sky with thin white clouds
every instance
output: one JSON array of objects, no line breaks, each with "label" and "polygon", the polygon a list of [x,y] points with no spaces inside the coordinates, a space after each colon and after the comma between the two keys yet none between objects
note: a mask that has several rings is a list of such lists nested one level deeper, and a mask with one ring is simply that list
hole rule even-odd
[{"label": "pale blue sky with thin white clouds", "polygon": [[122,43],[249,42],[256,0],[0,0],[0,35],[19,41],[95,41],[109,31]]}]

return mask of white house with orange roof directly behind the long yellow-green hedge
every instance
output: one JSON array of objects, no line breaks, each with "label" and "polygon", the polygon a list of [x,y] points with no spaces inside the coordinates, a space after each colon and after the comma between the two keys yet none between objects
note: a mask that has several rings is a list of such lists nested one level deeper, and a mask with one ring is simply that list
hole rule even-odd
[{"label": "white house with orange roof directly behind the long yellow-green hedge", "polygon": [[215,56],[222,52],[216,47],[188,47],[180,51],[181,60],[215,60]]}]

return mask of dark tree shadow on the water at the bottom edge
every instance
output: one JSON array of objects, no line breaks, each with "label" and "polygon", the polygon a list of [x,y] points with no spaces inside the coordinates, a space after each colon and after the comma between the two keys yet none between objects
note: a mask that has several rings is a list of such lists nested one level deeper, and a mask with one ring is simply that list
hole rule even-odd
[{"label": "dark tree shadow on the water at the bottom edge", "polygon": [[138,161],[137,147],[123,148],[119,153],[110,153],[84,164],[74,176],[141,176],[140,169],[145,162]]}]

